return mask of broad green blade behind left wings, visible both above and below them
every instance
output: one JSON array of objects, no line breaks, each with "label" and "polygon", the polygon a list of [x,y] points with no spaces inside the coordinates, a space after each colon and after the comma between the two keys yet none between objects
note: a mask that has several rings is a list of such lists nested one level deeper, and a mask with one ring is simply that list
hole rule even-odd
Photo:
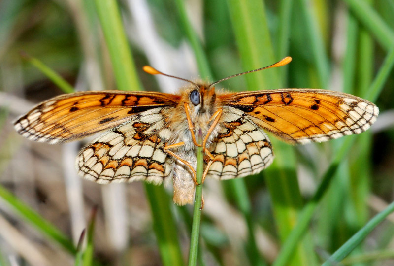
[{"label": "broad green blade behind left wings, visible both above and below them", "polygon": [[[118,88],[141,90],[117,2],[96,0],[95,3]],[[166,266],[182,266],[183,258],[177,238],[177,228],[170,211],[172,203],[168,200],[163,187],[145,184],[145,190],[153,213],[154,229],[162,261]]]}]

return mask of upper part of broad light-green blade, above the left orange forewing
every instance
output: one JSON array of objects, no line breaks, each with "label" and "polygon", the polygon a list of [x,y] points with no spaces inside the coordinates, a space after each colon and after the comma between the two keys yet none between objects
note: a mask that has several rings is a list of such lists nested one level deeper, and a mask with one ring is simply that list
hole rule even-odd
[{"label": "upper part of broad light-green blade, above the left orange forewing", "polygon": [[140,90],[138,76],[131,57],[117,2],[115,0],[95,0],[95,3],[118,89]]}]

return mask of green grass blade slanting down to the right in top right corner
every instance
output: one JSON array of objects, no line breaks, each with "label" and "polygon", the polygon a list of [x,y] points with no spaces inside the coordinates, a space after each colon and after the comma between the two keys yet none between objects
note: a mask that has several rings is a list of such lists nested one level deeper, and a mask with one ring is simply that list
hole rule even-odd
[{"label": "green grass blade slanting down to the right in top right corner", "polygon": [[344,0],[359,21],[374,35],[387,50],[393,46],[394,31],[391,29],[367,1]]}]

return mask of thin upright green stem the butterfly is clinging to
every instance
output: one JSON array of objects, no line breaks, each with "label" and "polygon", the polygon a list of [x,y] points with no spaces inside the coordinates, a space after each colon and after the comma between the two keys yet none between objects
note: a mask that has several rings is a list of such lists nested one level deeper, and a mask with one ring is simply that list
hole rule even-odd
[{"label": "thin upright green stem the butterfly is clinging to", "polygon": [[[201,143],[201,133],[198,134],[197,142]],[[193,224],[192,224],[192,235],[190,237],[190,253],[189,253],[189,266],[195,266],[197,264],[198,255],[198,239],[200,233],[200,221],[201,221],[201,202],[202,202],[202,172],[204,166],[204,155],[202,153],[202,147],[197,147],[197,183],[196,196],[194,201],[193,209]]]}]

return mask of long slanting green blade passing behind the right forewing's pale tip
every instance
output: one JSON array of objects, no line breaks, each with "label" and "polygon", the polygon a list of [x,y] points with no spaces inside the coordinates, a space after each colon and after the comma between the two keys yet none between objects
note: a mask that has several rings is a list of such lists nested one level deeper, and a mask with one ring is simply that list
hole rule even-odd
[{"label": "long slanting green blade passing behind the right forewing's pale tip", "polygon": [[[373,83],[370,86],[370,89],[368,90],[367,96],[366,97],[361,96],[361,97],[370,101],[375,101],[378,98],[380,92],[382,91],[383,85],[386,82],[393,66],[394,66],[394,46],[390,50],[382,66],[380,67]],[[355,142],[357,137],[358,136],[345,138],[339,150],[335,152],[335,156],[330,166],[328,167],[328,170],[325,172],[322,182],[319,185],[319,188],[317,189],[313,198],[303,208],[298,218],[296,226],[289,234],[288,238],[286,239],[286,242],[282,245],[282,248],[273,266],[285,266],[288,264],[289,259],[291,258],[293,252],[295,251],[297,243],[302,238],[303,234],[305,233],[309,225],[310,220],[312,219],[317,204],[320,202],[320,199],[327,191],[330,181],[333,177],[333,174],[337,170],[342,159],[352,149],[352,144]]]}]

